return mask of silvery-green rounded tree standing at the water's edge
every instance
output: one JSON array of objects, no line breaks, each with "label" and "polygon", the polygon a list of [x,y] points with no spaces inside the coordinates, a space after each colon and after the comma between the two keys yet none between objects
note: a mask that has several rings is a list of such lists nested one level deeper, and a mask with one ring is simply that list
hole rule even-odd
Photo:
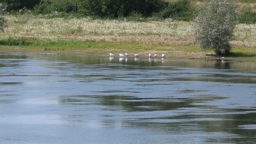
[{"label": "silvery-green rounded tree standing at the water's edge", "polygon": [[217,55],[230,52],[229,40],[238,22],[236,0],[210,0],[198,9],[195,37],[202,49],[214,49]]}]

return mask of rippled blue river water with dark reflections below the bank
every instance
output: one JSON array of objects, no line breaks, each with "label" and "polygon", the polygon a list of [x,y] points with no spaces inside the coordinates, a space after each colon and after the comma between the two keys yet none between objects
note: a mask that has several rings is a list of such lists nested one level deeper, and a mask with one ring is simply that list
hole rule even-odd
[{"label": "rippled blue river water with dark reflections below the bank", "polygon": [[256,63],[0,54],[0,144],[256,144]]}]

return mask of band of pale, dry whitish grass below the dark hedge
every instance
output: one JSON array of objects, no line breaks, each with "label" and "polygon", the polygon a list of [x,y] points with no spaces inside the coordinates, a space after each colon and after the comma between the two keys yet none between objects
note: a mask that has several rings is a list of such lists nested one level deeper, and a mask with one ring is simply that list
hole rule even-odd
[{"label": "band of pale, dry whitish grass below the dark hedge", "polygon": [[[32,37],[53,40],[136,41],[142,43],[193,45],[192,22],[93,20],[91,18],[52,18],[7,15],[8,27],[0,38]],[[239,24],[235,46],[256,47],[256,24]]]}]

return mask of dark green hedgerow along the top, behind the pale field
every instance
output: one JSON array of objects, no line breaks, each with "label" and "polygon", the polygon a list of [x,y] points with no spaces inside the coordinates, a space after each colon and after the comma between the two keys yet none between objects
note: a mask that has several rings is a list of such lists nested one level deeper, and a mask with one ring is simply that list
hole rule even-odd
[{"label": "dark green hedgerow along the top, behind the pale field", "polygon": [[[153,17],[155,20],[172,18],[191,21],[195,8],[203,0],[0,0],[8,5],[7,11],[26,11],[54,17],[124,18],[137,20]],[[242,11],[240,23],[255,23],[256,0],[238,0]],[[58,15],[53,15],[58,14]],[[135,18],[132,18],[135,17]],[[251,18],[250,18],[251,17]]]}]

